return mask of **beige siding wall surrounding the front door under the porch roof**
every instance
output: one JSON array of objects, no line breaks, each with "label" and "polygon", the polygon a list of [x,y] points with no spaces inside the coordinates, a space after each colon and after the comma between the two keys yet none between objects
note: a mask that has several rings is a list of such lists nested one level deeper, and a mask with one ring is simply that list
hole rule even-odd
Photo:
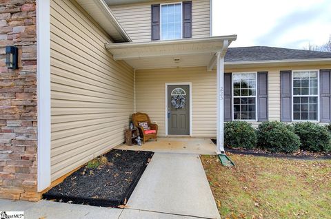
[{"label": "beige siding wall surrounding the front door under the porch roof", "polygon": [[216,136],[216,72],[206,67],[136,71],[137,112],[146,112],[165,136],[165,83],[192,83],[192,136]]}]

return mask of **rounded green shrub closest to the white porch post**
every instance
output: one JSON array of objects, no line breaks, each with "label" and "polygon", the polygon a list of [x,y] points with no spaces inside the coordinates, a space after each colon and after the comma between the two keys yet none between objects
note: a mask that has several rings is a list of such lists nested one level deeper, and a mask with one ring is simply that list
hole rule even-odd
[{"label": "rounded green shrub closest to the white porch post", "polygon": [[257,132],[250,123],[245,121],[225,123],[224,145],[252,149],[257,145]]}]

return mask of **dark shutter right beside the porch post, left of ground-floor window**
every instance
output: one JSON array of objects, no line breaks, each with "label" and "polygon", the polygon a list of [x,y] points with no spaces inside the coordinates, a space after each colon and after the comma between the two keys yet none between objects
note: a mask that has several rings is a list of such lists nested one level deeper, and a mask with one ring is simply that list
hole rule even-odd
[{"label": "dark shutter right beside the porch post, left of ground-floor window", "polygon": [[224,121],[232,121],[232,73],[224,74]]}]

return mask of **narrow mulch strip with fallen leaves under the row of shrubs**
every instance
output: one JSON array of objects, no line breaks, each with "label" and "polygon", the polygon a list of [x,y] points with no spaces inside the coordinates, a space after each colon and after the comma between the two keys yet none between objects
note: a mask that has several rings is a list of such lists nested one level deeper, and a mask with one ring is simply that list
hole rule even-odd
[{"label": "narrow mulch strip with fallen leaves under the row of shrubs", "polygon": [[[216,145],[217,140],[211,139],[212,142]],[[273,157],[273,158],[292,158],[292,159],[301,159],[301,160],[330,160],[331,154],[321,152],[306,152],[300,151],[293,154],[284,154],[284,153],[271,153],[262,149],[243,149],[243,148],[230,148],[224,147],[225,153],[230,154],[243,154],[243,155],[253,155],[253,156],[264,156],[264,157]]]}]

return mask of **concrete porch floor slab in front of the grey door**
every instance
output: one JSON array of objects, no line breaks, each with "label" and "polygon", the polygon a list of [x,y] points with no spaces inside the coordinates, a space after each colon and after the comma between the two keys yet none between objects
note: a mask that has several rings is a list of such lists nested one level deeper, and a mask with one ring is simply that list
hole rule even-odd
[{"label": "concrete porch floor slab in front of the grey door", "polygon": [[210,138],[157,138],[148,140],[142,146],[119,145],[117,149],[179,154],[216,154],[216,147]]}]

